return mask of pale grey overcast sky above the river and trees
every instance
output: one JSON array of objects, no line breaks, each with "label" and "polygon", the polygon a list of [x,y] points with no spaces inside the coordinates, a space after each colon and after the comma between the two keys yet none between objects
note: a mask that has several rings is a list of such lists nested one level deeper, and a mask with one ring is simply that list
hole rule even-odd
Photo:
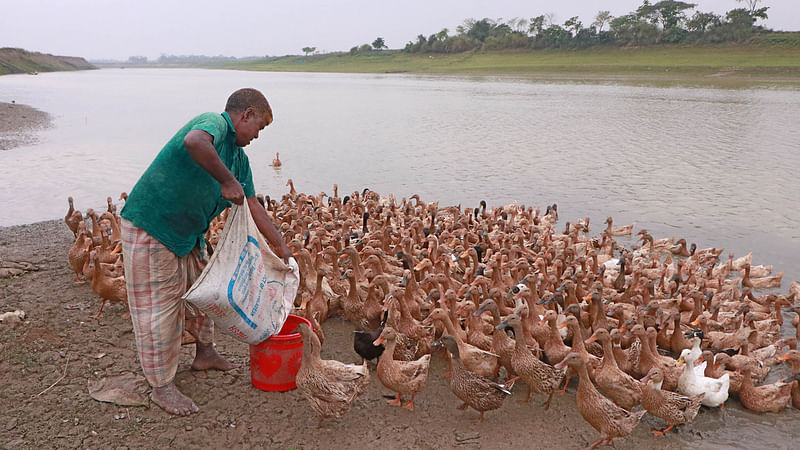
[{"label": "pale grey overcast sky above the river and trees", "polygon": [[[736,0],[696,0],[696,10],[724,14]],[[349,50],[381,36],[402,48],[418,34],[466,18],[550,15],[584,26],[600,10],[614,16],[641,0],[0,0],[0,47],[87,59],[161,54],[263,56]],[[800,0],[764,0],[774,30],[800,30]],[[691,12],[690,12],[691,13]]]}]

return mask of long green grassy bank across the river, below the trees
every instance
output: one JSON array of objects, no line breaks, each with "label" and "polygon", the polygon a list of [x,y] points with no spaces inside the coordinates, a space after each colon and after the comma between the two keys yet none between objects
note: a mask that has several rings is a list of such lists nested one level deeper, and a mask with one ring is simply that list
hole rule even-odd
[{"label": "long green grassy bank across the river, below the trees", "polygon": [[284,56],[221,67],[275,72],[576,74],[781,77],[800,79],[800,47],[723,45],[703,47],[593,48],[477,52],[456,55],[373,51]]}]

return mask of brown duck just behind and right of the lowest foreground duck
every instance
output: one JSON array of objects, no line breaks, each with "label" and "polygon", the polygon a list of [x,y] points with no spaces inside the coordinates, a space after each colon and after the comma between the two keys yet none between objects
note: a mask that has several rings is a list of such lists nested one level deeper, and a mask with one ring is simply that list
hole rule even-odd
[{"label": "brown duck just behind and right of the lowest foreground duck", "polygon": [[594,370],[595,382],[603,394],[615,404],[627,410],[633,409],[641,400],[642,384],[617,367],[611,335],[605,328],[598,328],[586,340],[587,343],[595,341],[600,341],[603,345],[603,359],[600,366]]}]

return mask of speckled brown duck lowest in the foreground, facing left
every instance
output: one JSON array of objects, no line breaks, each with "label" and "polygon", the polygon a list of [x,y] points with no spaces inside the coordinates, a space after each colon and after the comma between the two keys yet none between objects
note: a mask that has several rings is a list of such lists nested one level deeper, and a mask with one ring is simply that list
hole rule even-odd
[{"label": "speckled brown duck lowest in the foreground, facing left", "polygon": [[578,373],[578,392],[575,396],[578,411],[583,419],[600,433],[600,439],[592,444],[591,449],[602,444],[613,445],[615,438],[630,435],[647,412],[644,409],[630,412],[615,405],[598,392],[589,379],[586,362],[579,353],[570,353],[555,367],[556,369],[572,367]]}]

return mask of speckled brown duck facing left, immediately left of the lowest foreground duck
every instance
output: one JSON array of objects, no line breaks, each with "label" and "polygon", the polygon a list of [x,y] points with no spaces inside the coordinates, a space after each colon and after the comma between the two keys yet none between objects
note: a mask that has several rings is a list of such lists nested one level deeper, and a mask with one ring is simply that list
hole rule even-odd
[{"label": "speckled brown duck facing left, immediately left of the lowest foreground duck", "polygon": [[511,356],[511,366],[514,369],[514,373],[528,385],[528,394],[525,397],[525,402],[530,401],[532,393],[548,394],[547,401],[543,406],[545,409],[549,409],[550,402],[553,399],[553,392],[558,389],[564,379],[564,371],[540,361],[525,345],[522,319],[517,313],[506,316],[495,329],[504,330],[507,326],[514,330],[514,353]]}]

